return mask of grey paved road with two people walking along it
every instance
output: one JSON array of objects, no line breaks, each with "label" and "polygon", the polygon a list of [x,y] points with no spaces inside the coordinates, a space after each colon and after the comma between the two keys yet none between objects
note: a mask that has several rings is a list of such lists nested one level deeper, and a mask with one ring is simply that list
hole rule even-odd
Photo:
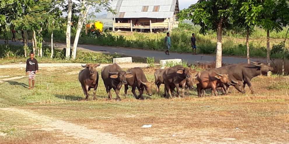
[{"label": "grey paved road with two people walking along it", "polygon": [[[0,40],[0,43],[4,43],[3,40]],[[11,42],[11,45],[23,45],[22,42]],[[56,47],[64,48],[66,45],[64,43],[55,43]],[[196,63],[200,62],[211,62],[214,61],[214,56],[207,56],[207,55],[192,55],[192,54],[178,54],[178,53],[170,53],[169,56],[164,54],[161,51],[150,51],[150,50],[143,50],[143,49],[128,49],[122,47],[103,47],[103,46],[96,46],[96,45],[78,45],[78,49],[83,49],[87,51],[94,51],[94,52],[101,52],[101,53],[108,53],[114,54],[118,53],[125,56],[137,56],[137,57],[154,57],[155,60],[160,59],[173,59],[173,58],[181,58],[183,61],[188,61],[188,63]],[[251,59],[251,61],[262,61],[265,62],[265,59]],[[238,58],[238,57],[228,57],[223,56],[222,58],[223,63],[246,63],[246,58]]]}]

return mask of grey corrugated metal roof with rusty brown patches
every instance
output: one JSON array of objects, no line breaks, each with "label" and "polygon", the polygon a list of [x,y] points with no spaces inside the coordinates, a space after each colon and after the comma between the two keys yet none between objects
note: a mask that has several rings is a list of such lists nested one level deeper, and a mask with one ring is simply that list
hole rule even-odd
[{"label": "grey corrugated metal roof with rusty brown patches", "polygon": [[117,13],[107,18],[168,18],[179,12],[178,0],[113,0]]}]

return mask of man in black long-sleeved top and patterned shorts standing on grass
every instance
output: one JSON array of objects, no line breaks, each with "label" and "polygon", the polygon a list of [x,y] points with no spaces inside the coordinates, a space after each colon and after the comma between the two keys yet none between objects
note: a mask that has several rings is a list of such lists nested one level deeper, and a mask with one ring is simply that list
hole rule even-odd
[{"label": "man in black long-sleeved top and patterned shorts standing on grass", "polygon": [[[34,54],[30,54],[30,58],[27,59],[26,61],[26,74],[28,74],[28,82],[29,82],[29,88],[28,89],[33,89],[34,88],[34,83],[35,83],[35,75],[38,70],[38,62],[34,58]],[[32,87],[31,87],[32,83]]]}]

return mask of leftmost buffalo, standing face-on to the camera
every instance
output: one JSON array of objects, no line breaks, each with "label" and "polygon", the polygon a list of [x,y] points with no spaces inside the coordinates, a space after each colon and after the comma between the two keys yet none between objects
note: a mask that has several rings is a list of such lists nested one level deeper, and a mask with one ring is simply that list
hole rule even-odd
[{"label": "leftmost buffalo, standing face-on to the camera", "polygon": [[78,80],[81,83],[81,87],[83,89],[83,93],[86,96],[85,99],[88,99],[88,91],[93,88],[93,99],[96,99],[96,89],[98,86],[98,72],[96,70],[96,67],[98,67],[100,64],[86,64],[81,65],[82,67],[85,67],[85,69],[80,70],[78,74]]}]

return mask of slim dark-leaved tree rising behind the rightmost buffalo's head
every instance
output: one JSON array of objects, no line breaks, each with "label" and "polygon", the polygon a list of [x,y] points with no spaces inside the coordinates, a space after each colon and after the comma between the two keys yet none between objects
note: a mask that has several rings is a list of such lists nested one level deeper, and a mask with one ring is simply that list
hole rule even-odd
[{"label": "slim dark-leaved tree rising behind the rightmost buffalo's head", "polygon": [[264,8],[259,24],[267,31],[267,65],[270,65],[270,31],[279,32],[288,24],[288,0],[265,0],[262,5]]}]

